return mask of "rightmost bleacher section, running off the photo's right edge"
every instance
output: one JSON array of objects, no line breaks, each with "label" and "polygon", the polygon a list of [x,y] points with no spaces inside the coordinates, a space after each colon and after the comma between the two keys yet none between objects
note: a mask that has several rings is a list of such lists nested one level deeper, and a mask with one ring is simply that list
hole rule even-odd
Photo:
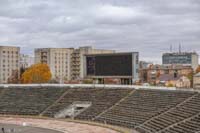
[{"label": "rightmost bleacher section, running off the photo's right edge", "polygon": [[190,119],[191,117],[198,115],[199,113],[200,113],[200,94],[197,93],[193,95],[193,97],[191,97],[190,99],[180,104],[179,106],[172,108],[171,110],[164,112],[157,117],[152,118],[151,120],[145,122],[136,129],[142,133],[176,132],[175,130],[179,130],[179,128],[180,130],[183,130],[182,126],[187,126],[188,123],[183,122],[184,120]]}]

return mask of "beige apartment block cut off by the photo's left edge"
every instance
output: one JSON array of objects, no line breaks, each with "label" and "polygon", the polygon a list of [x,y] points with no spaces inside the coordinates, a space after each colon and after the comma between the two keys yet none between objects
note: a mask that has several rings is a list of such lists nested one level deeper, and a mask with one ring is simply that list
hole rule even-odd
[{"label": "beige apartment block cut off by the photo's left edge", "polygon": [[19,57],[19,47],[0,46],[0,83],[7,83],[14,73],[19,78]]}]

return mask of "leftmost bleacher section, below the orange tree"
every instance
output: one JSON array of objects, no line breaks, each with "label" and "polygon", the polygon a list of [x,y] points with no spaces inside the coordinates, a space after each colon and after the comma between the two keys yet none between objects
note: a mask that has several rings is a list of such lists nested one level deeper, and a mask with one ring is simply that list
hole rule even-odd
[{"label": "leftmost bleacher section, below the orange tree", "polygon": [[5,88],[0,95],[0,114],[38,115],[64,91],[51,87]]}]

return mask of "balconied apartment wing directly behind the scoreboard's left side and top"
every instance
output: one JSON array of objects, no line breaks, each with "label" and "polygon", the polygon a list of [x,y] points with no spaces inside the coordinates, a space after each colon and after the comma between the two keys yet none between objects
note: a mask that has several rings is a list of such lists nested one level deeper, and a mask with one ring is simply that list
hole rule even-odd
[{"label": "balconied apartment wing directly behind the scoreboard's left side and top", "polygon": [[115,53],[115,51],[105,49],[93,49],[90,46],[74,49],[73,54],[71,56],[71,79],[80,80],[84,78],[84,55],[106,53]]}]

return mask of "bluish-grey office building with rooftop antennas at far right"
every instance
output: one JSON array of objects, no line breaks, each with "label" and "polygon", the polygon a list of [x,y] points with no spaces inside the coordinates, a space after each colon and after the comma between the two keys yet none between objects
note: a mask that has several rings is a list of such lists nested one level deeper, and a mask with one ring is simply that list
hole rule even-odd
[{"label": "bluish-grey office building with rooftop antennas at far right", "polygon": [[199,65],[198,58],[199,56],[196,52],[164,53],[162,56],[162,63],[163,65],[189,65],[195,70]]}]

